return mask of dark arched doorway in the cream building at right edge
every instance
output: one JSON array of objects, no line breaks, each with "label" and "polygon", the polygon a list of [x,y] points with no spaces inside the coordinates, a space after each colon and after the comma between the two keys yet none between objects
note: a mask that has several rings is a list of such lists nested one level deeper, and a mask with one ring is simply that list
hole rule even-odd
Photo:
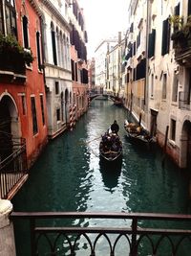
[{"label": "dark arched doorway in the cream building at right edge", "polygon": [[180,167],[191,170],[191,122],[183,123],[180,144]]}]

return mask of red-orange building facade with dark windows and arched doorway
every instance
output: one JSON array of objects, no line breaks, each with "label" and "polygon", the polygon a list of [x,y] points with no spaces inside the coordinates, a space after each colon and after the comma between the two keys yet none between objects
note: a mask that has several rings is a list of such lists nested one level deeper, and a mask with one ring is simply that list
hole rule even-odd
[{"label": "red-orange building facade with dark windows and arched doorway", "polygon": [[26,144],[29,167],[47,144],[41,14],[35,1],[0,3],[0,160]]}]

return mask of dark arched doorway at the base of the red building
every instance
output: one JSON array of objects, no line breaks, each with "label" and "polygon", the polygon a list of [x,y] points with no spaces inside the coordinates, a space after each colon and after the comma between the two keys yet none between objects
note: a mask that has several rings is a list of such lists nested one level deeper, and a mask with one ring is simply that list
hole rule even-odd
[{"label": "dark arched doorway at the base of the red building", "polygon": [[16,105],[9,95],[0,100],[0,161],[13,151],[13,140],[19,137]]}]

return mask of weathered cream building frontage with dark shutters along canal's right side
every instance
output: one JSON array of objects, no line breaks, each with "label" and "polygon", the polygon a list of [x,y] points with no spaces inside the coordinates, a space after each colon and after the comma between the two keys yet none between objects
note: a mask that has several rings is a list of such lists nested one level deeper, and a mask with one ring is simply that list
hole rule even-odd
[{"label": "weathered cream building frontage with dark shutters along canal's right side", "polygon": [[187,0],[129,5],[125,105],[180,168],[191,166],[190,14]]}]

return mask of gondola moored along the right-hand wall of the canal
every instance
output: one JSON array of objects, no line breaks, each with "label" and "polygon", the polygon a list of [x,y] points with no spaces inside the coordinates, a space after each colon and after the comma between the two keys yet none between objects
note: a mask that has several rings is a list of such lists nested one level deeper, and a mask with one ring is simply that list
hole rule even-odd
[{"label": "gondola moored along the right-hand wall of the canal", "polygon": [[155,142],[155,139],[150,136],[149,132],[136,123],[129,123],[125,120],[124,128],[127,132],[127,138],[132,143],[149,146],[151,143]]}]

